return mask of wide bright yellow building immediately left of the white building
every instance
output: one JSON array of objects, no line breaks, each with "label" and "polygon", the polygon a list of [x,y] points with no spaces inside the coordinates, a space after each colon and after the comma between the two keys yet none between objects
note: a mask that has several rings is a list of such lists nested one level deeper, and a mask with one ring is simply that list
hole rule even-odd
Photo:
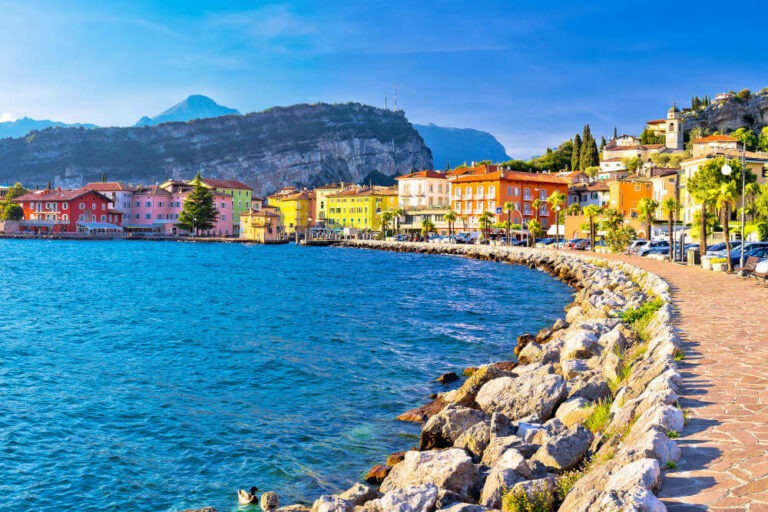
[{"label": "wide bright yellow building immediately left of the white building", "polygon": [[330,229],[357,228],[378,231],[379,215],[397,208],[396,187],[350,187],[327,196]]}]

